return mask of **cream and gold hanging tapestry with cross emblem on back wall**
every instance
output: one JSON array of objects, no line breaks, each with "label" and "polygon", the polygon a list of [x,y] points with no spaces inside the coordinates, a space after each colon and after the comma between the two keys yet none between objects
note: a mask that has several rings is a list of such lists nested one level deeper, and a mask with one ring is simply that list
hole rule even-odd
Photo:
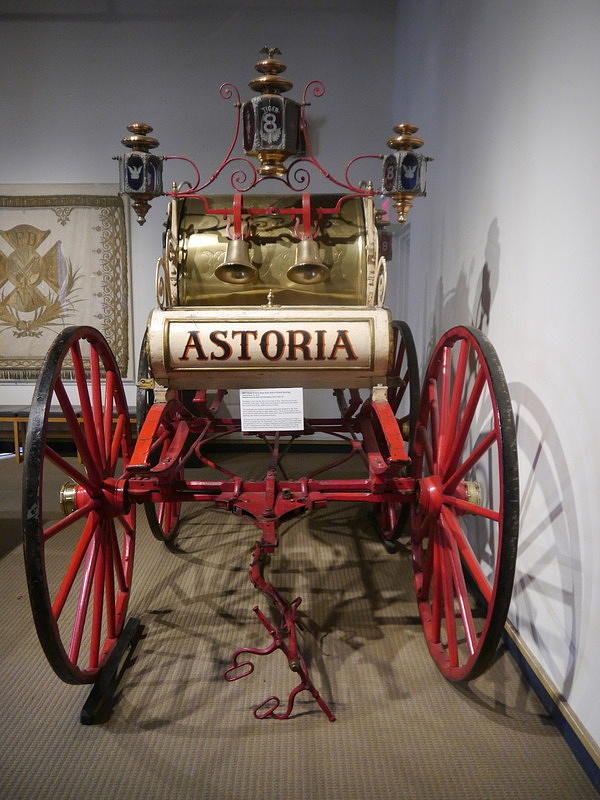
[{"label": "cream and gold hanging tapestry with cross emblem on back wall", "polygon": [[[54,337],[68,325],[98,328],[127,376],[122,199],[1,195],[0,380],[35,380]],[[72,377],[68,364],[63,377]]]}]

